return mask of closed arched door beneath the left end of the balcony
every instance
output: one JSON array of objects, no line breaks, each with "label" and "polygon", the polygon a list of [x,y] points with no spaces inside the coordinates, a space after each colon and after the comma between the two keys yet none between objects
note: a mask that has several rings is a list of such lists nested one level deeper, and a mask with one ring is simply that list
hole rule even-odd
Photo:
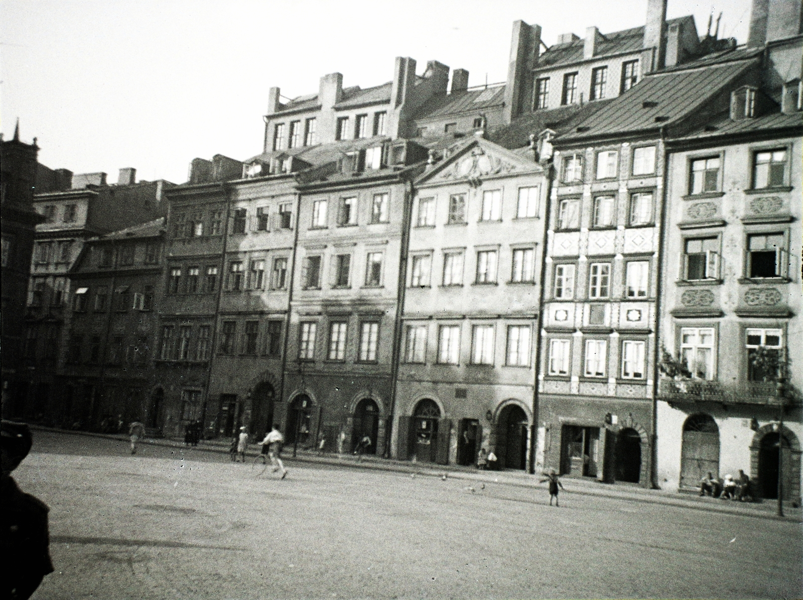
[{"label": "closed arched door beneath the left end of the balcony", "polygon": [[719,477],[719,427],[708,414],[692,414],[683,423],[680,487],[696,488],[708,473]]}]

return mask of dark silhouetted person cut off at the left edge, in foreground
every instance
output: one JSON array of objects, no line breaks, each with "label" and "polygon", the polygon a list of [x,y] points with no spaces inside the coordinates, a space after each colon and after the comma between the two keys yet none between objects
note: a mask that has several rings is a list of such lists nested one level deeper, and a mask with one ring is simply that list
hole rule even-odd
[{"label": "dark silhouetted person cut off at the left edge, in foreground", "polygon": [[2,422],[2,598],[31,598],[53,572],[47,534],[47,504],[22,492],[11,471],[31,451],[31,431],[24,423]]}]

